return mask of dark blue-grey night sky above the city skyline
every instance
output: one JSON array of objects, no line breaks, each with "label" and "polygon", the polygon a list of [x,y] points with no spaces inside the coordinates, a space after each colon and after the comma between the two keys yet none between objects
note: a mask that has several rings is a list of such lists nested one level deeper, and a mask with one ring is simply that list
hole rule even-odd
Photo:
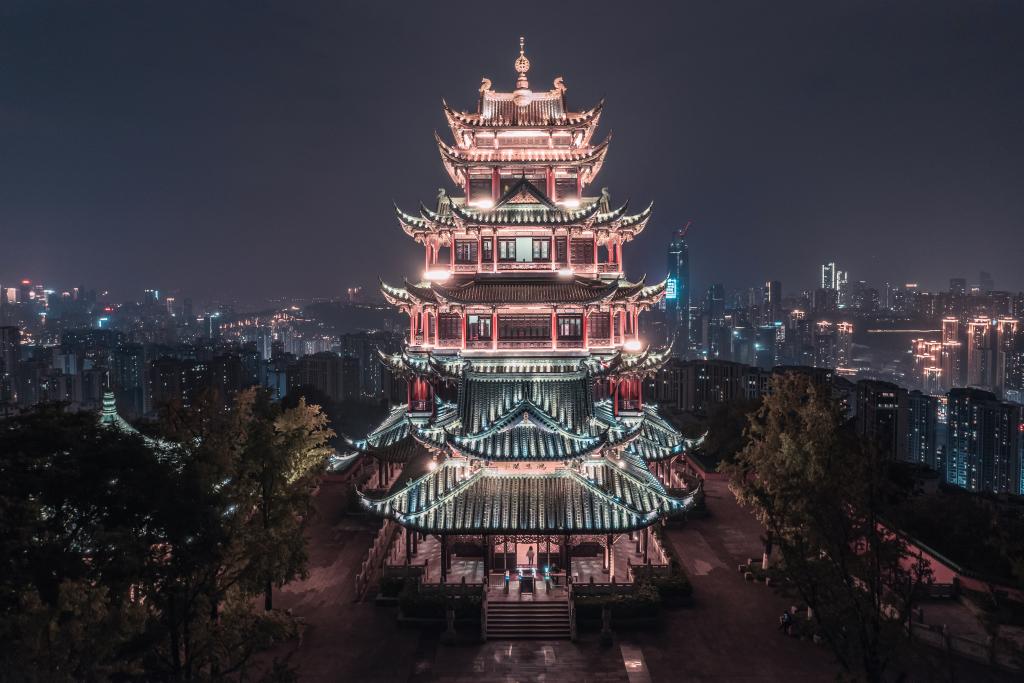
[{"label": "dark blue-grey night sky above the city skyline", "polygon": [[422,270],[398,227],[455,193],[444,96],[607,106],[588,194],[654,218],[694,287],[950,276],[1024,289],[1024,3],[0,2],[0,282],[340,296]]}]

